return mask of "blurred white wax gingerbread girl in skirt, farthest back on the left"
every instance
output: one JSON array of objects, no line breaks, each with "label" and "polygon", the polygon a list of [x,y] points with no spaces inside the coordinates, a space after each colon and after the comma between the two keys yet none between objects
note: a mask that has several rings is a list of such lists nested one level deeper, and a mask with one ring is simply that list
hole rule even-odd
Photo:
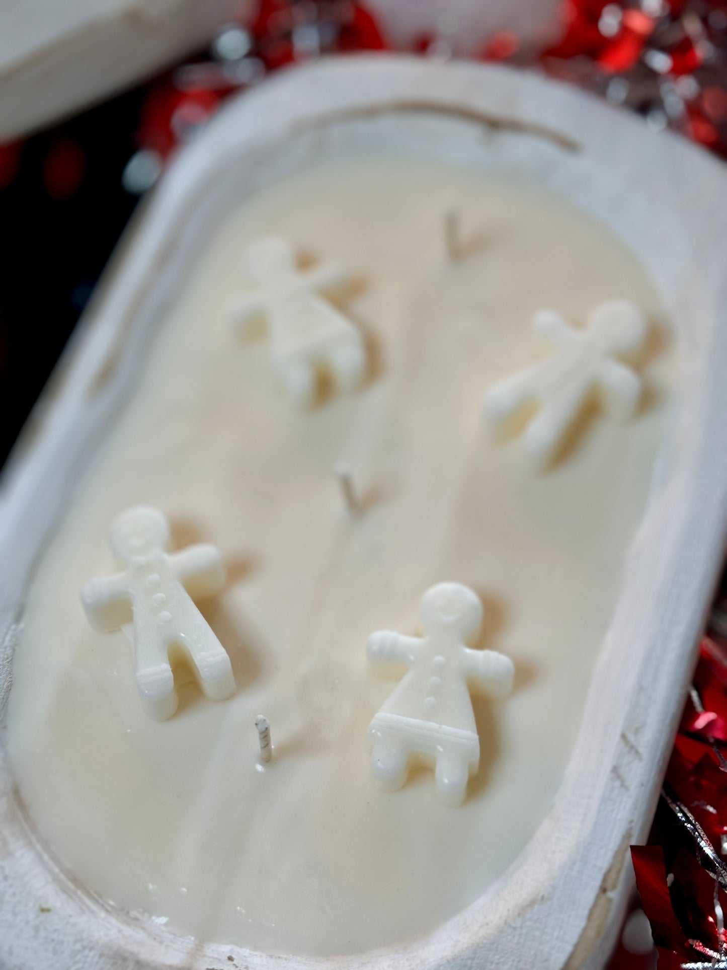
[{"label": "blurred white wax gingerbread girl in skirt, farthest back on the left", "polygon": [[273,371],[296,404],[312,404],[320,372],[328,372],[339,391],[352,391],[363,382],[364,338],[324,298],[347,282],[340,269],[323,263],[299,270],[290,242],[272,238],[245,248],[242,270],[255,289],[237,301],[232,320],[249,333],[267,319]]}]

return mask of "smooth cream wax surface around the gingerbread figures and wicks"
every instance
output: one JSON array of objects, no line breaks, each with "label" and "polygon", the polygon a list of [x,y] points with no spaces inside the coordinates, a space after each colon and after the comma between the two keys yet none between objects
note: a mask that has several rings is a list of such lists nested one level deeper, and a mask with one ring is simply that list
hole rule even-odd
[{"label": "smooth cream wax surface around the gingerbread figures and wicks", "polygon": [[[454,264],[453,206],[470,248]],[[361,276],[345,305],[373,348],[361,392],[301,412],[266,340],[231,328],[240,249],[270,233]],[[547,350],[533,311],[580,321],[614,297],[663,325],[629,253],[527,183],[344,158],[231,212],[160,319],[27,600],[10,751],[32,821],[83,883],[205,941],[343,954],[425,933],[503,874],[574,745],[664,431],[669,353],[662,340],[648,360],[632,423],[595,416],[546,474],[523,469],[517,439],[489,441],[480,404]],[[358,517],[336,462],[353,469]],[[188,683],[163,724],[142,712],[123,634],[91,630],[79,604],[112,571],[112,517],[137,502],[171,517],[174,548],[219,545],[229,572],[205,615],[237,695],[212,702]],[[366,748],[395,687],[366,669],[366,638],[417,631],[443,580],[481,595],[480,645],[516,664],[509,700],[475,700],[482,760],[458,809],[427,771],[379,792]]]}]

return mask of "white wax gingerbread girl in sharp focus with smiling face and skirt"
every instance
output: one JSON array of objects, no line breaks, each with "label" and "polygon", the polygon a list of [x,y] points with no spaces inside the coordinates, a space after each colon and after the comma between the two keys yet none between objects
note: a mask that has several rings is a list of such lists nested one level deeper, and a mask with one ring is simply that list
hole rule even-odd
[{"label": "white wax gingerbread girl in sharp focus with smiling face and skirt", "polygon": [[458,806],[480,764],[480,739],[470,691],[505,697],[512,661],[493,650],[472,650],[482,626],[482,603],[469,587],[439,583],[420,607],[424,637],[372,633],[366,655],[383,674],[408,668],[368,728],[377,786],[395,792],[412,760],[434,764],[440,799]]}]

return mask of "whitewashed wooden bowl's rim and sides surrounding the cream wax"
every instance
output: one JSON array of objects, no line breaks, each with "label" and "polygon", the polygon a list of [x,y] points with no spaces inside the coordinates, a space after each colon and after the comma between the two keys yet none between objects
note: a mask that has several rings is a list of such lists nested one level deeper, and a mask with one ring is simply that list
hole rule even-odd
[{"label": "whitewashed wooden bowl's rim and sides surrounding the cream wax", "polygon": [[553,809],[505,875],[426,938],[344,958],[285,958],[179,939],[92,898],[31,836],[0,748],[3,966],[546,970],[600,966],[615,942],[629,845],[648,833],[723,551],[727,210],[718,201],[727,175],[700,149],[577,90],[475,64],[334,59],[232,101],[185,149],[127,233],[5,474],[0,710],[34,564],[205,232],[232,199],[295,171],[329,141],[371,137],[455,161],[477,146],[492,171],[517,171],[567,197],[630,246],[675,323],[673,420]]}]

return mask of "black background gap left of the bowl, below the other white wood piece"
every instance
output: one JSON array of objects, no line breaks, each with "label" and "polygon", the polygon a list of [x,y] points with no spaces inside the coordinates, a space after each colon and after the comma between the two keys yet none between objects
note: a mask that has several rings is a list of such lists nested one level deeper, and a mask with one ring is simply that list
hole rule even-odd
[{"label": "black background gap left of the bowl, below the other white wood piece", "polygon": [[135,209],[121,183],[144,89],[0,155],[0,465]]}]

